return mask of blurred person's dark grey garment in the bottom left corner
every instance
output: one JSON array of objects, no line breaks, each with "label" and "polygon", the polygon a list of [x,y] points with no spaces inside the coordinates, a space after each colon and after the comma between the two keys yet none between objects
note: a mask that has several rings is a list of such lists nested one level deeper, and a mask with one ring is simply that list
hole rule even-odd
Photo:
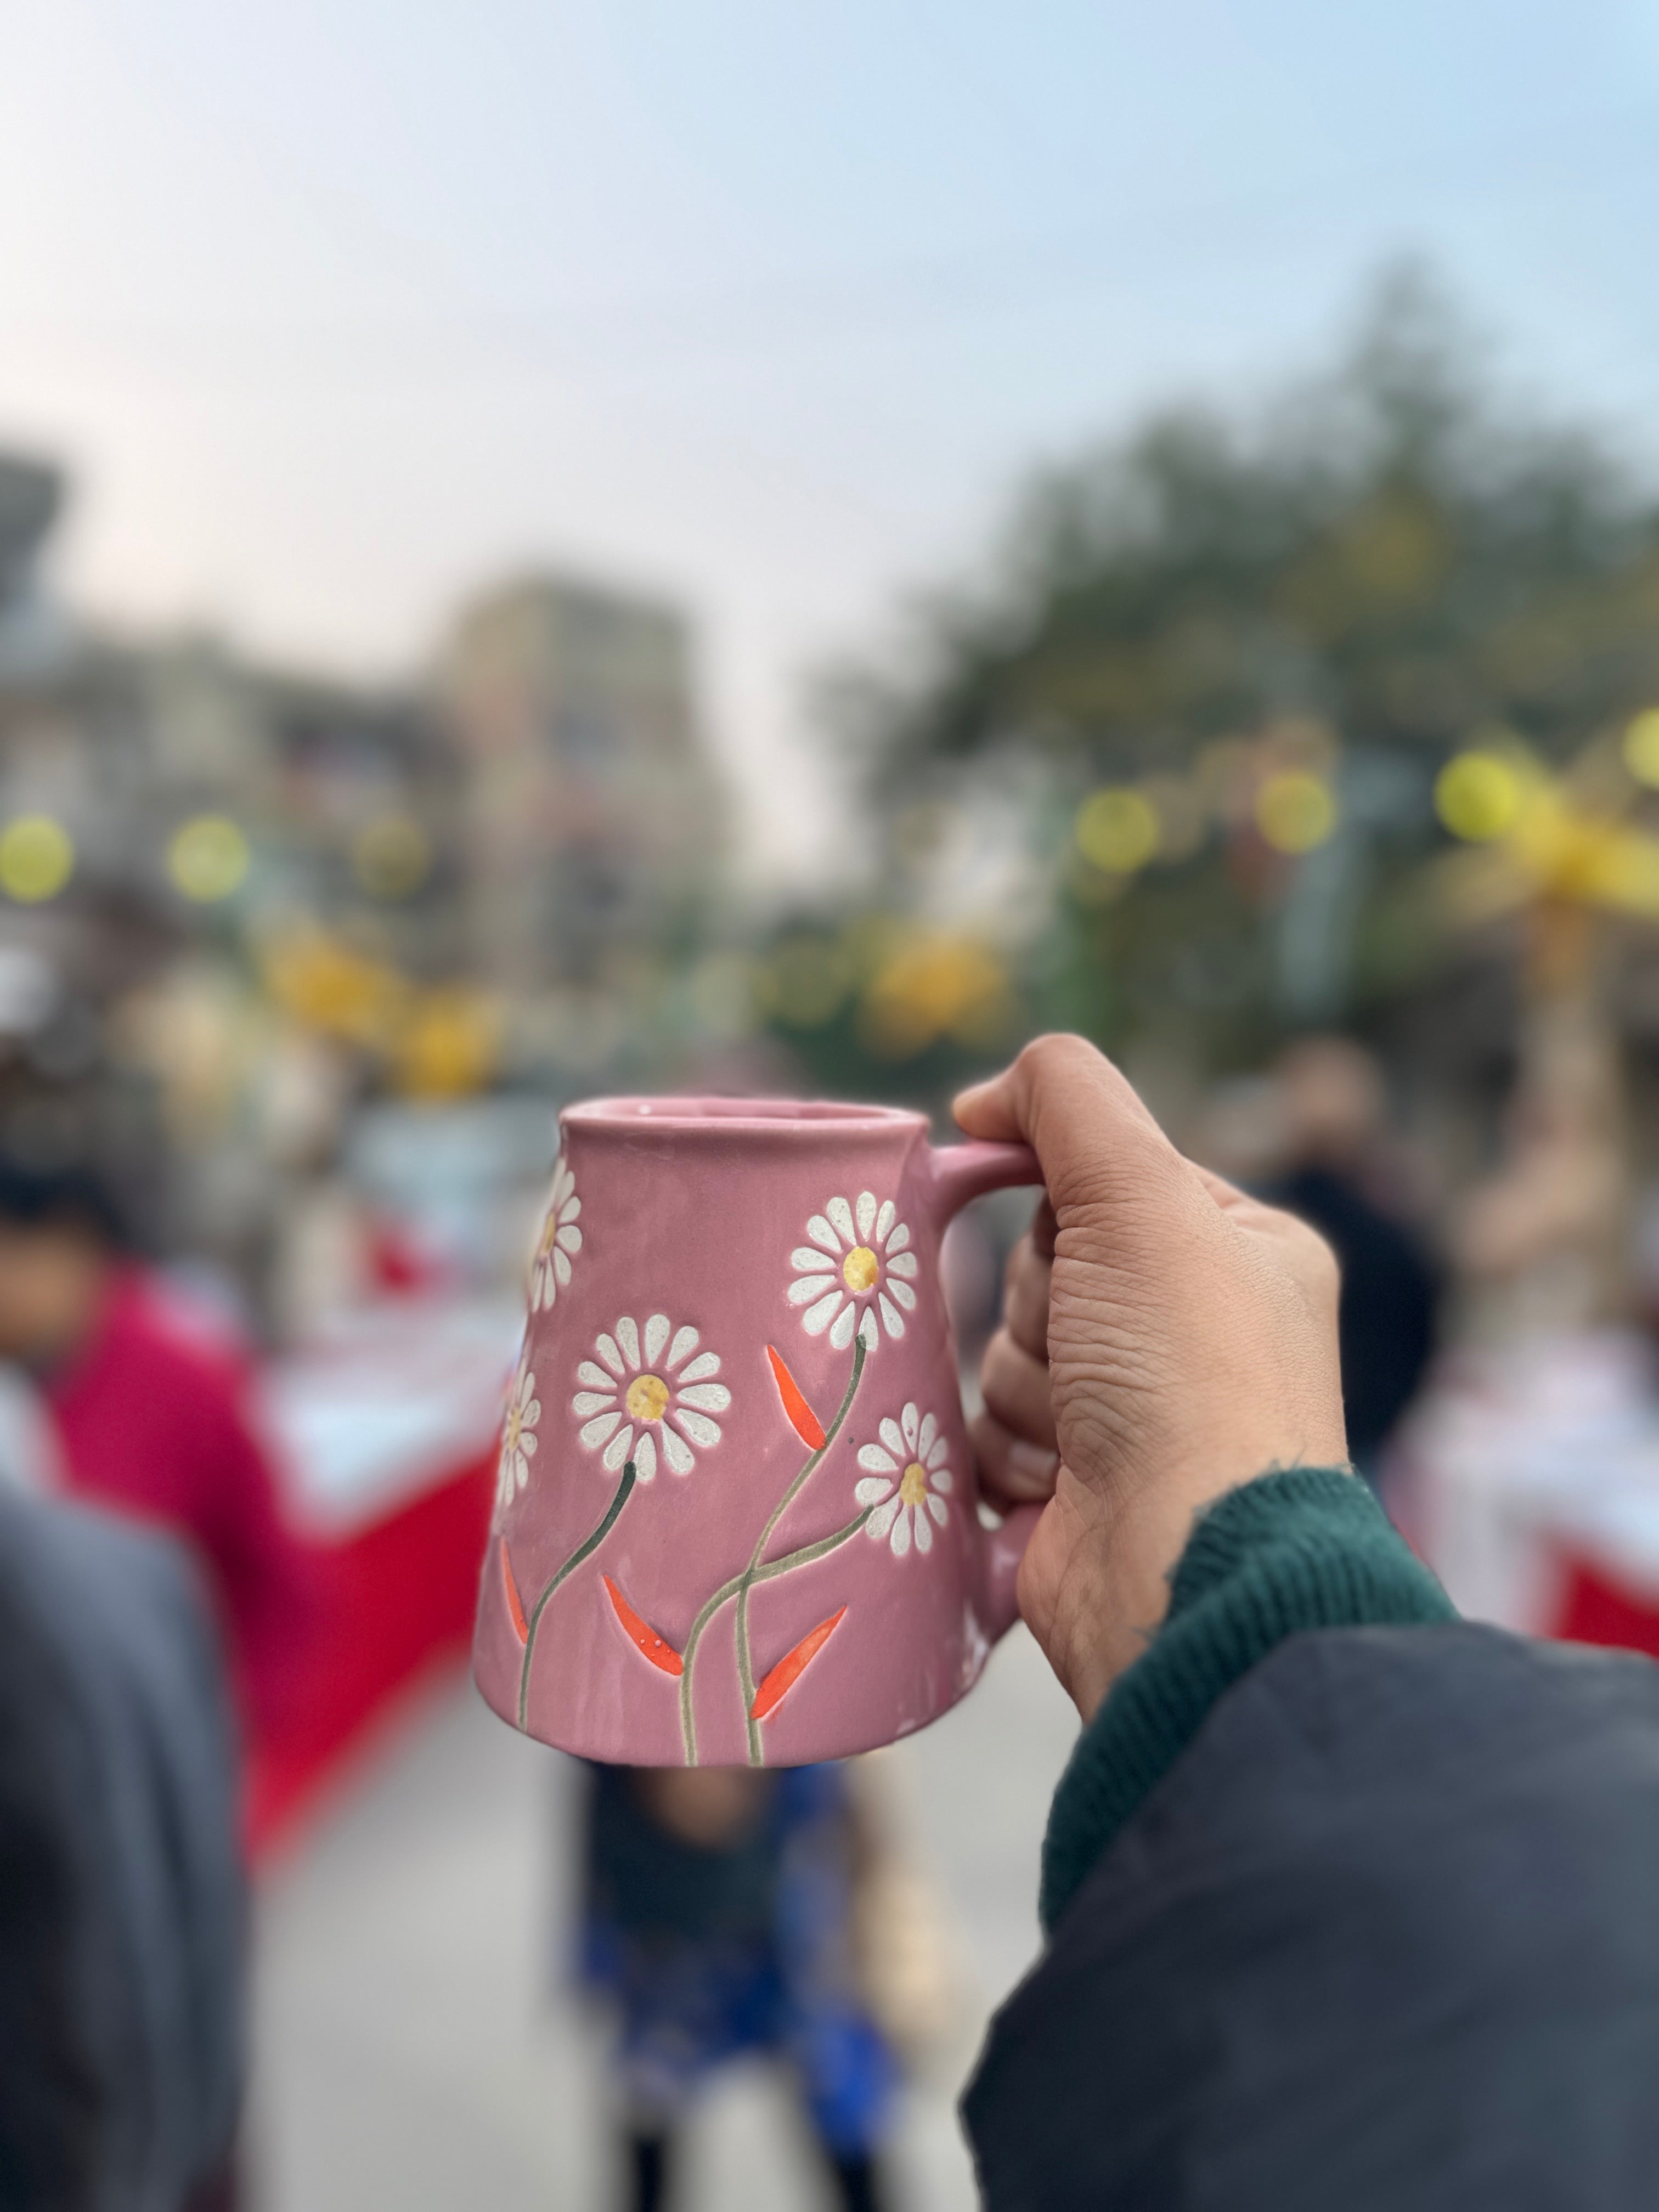
[{"label": "blurred person's dark grey garment in the bottom left corner", "polygon": [[0,2203],[223,2212],[243,2073],[223,1659],[181,1546],[0,1486]]}]

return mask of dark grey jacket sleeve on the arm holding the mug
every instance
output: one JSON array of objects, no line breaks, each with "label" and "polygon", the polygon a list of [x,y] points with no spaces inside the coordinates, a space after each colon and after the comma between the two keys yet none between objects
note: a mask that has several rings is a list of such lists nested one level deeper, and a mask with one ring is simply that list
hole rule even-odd
[{"label": "dark grey jacket sleeve on the arm holding the mug", "polygon": [[991,2212],[1659,2203],[1659,1668],[1294,1635],[998,2013]]}]

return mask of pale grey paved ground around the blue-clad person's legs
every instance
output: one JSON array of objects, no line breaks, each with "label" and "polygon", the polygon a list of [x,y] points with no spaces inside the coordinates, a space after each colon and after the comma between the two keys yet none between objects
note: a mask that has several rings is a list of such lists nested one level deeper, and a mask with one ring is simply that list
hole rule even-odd
[{"label": "pale grey paved ground around the blue-clad person's legs", "polygon": [[[960,2035],[905,2108],[909,2212],[973,2203],[953,2099],[1037,1942],[1037,1845],[1075,1734],[1022,1628],[980,1688],[883,1754],[953,1922]],[[254,2212],[604,2212],[604,2086],[586,2017],[549,1997],[571,1770],[447,1686],[411,1710],[259,1916]],[[732,2075],[690,2143],[684,2212],[814,2212],[794,2115]]]}]

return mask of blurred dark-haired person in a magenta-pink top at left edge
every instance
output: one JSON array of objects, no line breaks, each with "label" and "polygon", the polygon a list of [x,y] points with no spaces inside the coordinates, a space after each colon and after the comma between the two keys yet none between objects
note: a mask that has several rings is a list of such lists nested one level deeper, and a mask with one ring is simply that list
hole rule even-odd
[{"label": "blurred dark-haired person in a magenta-pink top at left edge", "polygon": [[243,1714],[281,1734],[314,1584],[248,1418],[250,1378],[126,1250],[91,1175],[0,1159],[0,1358],[40,1387],[71,1491],[190,1537]]}]

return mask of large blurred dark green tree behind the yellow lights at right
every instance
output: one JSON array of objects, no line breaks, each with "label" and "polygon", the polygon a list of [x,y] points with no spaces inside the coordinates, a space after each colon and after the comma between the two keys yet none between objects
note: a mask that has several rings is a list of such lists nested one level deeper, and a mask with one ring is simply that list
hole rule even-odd
[{"label": "large blurred dark green tree behind the yellow lights at right", "polygon": [[[843,672],[832,728],[891,825],[883,914],[792,925],[761,1009],[849,1084],[927,1088],[1055,1022],[1259,1057],[1431,973],[1425,860],[1504,807],[1475,765],[1436,812],[1449,761],[1548,770],[1657,699],[1659,507],[1520,414],[1396,272],[1332,374],[1048,471],[989,582],[933,602],[902,664]],[[971,792],[1042,887],[1020,925],[905,849],[918,803]]]}]

